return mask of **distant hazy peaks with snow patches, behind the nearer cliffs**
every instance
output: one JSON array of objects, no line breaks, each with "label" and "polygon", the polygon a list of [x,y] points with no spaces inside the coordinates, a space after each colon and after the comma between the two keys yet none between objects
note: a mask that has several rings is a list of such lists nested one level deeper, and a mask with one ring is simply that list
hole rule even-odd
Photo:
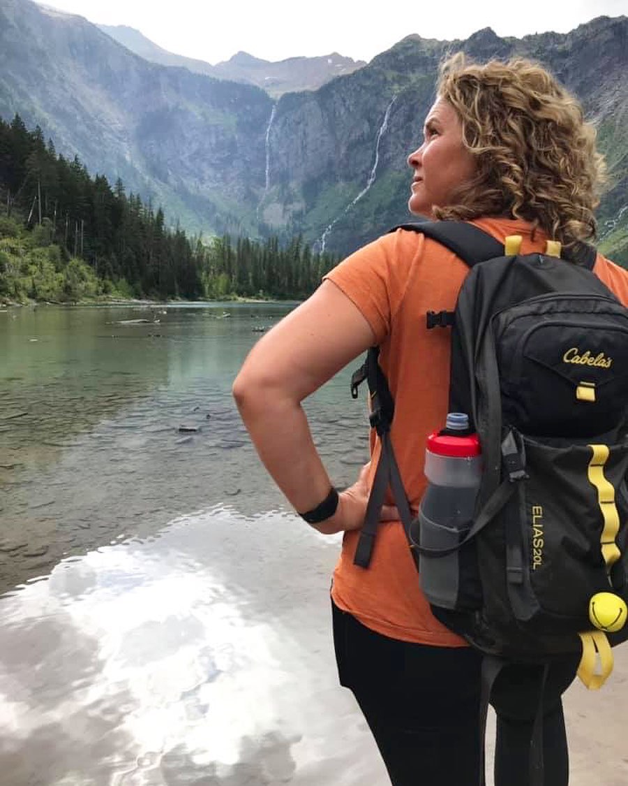
[{"label": "distant hazy peaks with snow patches, behind the nearer cliffs", "polygon": [[238,52],[228,61],[210,65],[202,60],[168,52],[147,39],[140,31],[125,25],[111,27],[99,24],[98,28],[131,52],[144,57],[144,60],[160,65],[182,66],[197,74],[206,74],[217,79],[257,85],[273,98],[300,90],[317,90],[330,79],[351,74],[366,65],[364,61],[342,57],[337,52],[322,57],[289,57],[274,63],[260,60],[246,52]]}]

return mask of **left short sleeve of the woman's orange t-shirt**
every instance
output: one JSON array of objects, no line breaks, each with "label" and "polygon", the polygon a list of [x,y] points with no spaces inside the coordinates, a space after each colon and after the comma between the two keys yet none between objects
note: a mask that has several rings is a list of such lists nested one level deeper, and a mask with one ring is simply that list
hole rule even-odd
[{"label": "left short sleeve of the woman's orange t-shirt", "polygon": [[343,259],[323,277],[333,281],[360,310],[377,343],[389,335],[422,241],[422,235],[403,230],[383,235]]}]

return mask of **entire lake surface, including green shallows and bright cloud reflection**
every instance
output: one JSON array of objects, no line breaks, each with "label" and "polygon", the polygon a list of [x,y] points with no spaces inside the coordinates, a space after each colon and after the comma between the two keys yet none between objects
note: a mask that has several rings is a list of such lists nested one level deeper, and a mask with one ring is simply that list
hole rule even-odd
[{"label": "entire lake surface, including green shallows and bright cloud reflection", "polygon": [[[288,308],[0,313],[0,784],[385,784],[334,672],[338,538],[287,509],[230,395]],[[351,483],[349,372],[307,409]]]}]

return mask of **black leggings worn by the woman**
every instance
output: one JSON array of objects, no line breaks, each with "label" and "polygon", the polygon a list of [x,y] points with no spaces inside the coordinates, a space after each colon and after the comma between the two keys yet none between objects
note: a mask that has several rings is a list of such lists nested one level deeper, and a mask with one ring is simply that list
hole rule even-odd
[{"label": "black leggings worn by the woman", "polygon": [[[392,786],[480,783],[481,656],[382,636],[334,604],[334,648],[341,685],[352,690],[378,744]],[[553,664],[544,691],[547,786],[567,786],[568,753],[560,696],[578,659]],[[495,786],[528,786],[540,667],[510,666],[491,695],[497,714]]]}]

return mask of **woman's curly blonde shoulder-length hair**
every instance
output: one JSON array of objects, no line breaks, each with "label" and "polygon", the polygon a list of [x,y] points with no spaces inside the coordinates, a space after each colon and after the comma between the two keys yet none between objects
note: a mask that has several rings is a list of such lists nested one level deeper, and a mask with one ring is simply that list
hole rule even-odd
[{"label": "woman's curly blonde shoulder-length hair", "polygon": [[479,65],[457,53],[441,64],[436,90],[477,162],[476,177],[436,218],[507,215],[565,245],[595,237],[604,157],[579,101],[553,75],[529,60]]}]

